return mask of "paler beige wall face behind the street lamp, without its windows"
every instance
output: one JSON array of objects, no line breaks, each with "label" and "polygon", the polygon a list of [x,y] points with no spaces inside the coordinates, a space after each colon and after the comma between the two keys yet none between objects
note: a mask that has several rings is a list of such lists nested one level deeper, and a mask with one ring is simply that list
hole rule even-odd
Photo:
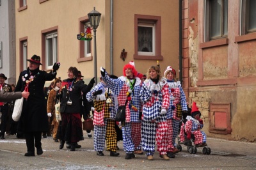
[{"label": "paler beige wall face behind the street lamp, without its windows", "polygon": [[[17,38],[16,51],[19,54],[19,38],[28,36],[28,58],[33,54],[42,56],[41,31],[50,27],[58,26],[58,61],[61,63],[58,76],[62,79],[67,77],[70,66],[76,66],[83,73],[85,79],[93,77],[93,61],[77,63],[79,56],[79,18],[87,16],[96,6],[96,10],[102,13],[100,26],[97,29],[97,59],[98,66],[104,66],[106,56],[106,6],[103,0],[93,3],[85,3],[77,0],[76,3],[67,0],[46,1],[39,4],[38,1],[28,1],[28,9],[17,12]],[[18,1],[15,1],[18,8]],[[108,17],[107,17],[108,18]],[[93,51],[93,49],[92,49]],[[19,62],[19,55],[17,55]],[[19,75],[19,70],[17,71]],[[100,72],[98,72],[99,75]]]}]

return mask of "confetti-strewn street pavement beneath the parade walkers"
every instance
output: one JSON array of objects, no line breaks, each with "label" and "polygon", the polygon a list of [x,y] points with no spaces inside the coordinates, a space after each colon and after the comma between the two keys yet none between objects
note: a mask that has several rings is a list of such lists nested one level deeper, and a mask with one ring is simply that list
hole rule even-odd
[{"label": "confetti-strewn street pavement beneath the parade walkers", "polygon": [[24,139],[15,135],[5,137],[0,140],[0,169],[256,169],[256,143],[207,138],[210,155],[203,155],[202,148],[190,154],[182,145],[176,158],[163,160],[156,151],[154,160],[149,161],[145,155],[125,160],[122,141],[118,143],[120,156],[110,157],[106,150],[104,157],[97,156],[93,137],[88,138],[86,132],[84,141],[79,142],[82,148],[76,151],[69,151],[66,146],[60,150],[60,143],[55,143],[52,137],[42,139],[44,153],[35,157],[24,157]]}]

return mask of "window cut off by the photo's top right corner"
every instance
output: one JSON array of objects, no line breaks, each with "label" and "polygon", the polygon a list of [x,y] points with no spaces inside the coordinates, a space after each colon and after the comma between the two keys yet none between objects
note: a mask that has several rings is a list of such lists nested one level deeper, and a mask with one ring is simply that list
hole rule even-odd
[{"label": "window cut off by the photo's top right corner", "polygon": [[256,1],[243,0],[241,6],[241,35],[256,32]]}]

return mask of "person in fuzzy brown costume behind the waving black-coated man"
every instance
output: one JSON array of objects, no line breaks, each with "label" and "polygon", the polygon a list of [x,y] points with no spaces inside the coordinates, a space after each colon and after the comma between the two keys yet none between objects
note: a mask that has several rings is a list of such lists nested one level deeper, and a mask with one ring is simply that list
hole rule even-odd
[{"label": "person in fuzzy brown costume behind the waving black-coated man", "polygon": [[59,123],[56,120],[56,114],[55,114],[55,104],[57,103],[56,95],[58,95],[60,88],[61,88],[61,79],[56,78],[53,82],[53,88],[49,92],[48,100],[47,100],[47,115],[48,117],[52,117],[52,138],[55,142],[58,142],[57,139],[57,130]]}]

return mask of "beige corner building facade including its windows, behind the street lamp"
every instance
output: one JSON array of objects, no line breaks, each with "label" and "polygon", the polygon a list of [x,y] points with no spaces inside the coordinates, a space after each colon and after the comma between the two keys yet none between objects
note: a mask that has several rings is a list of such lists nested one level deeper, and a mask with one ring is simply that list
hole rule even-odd
[{"label": "beige corner building facade including its windows, behind the street lamp", "polygon": [[[77,34],[90,26],[88,13],[93,7],[101,13],[97,36],[91,41],[77,40]],[[120,76],[129,61],[134,61],[140,73],[157,61],[162,72],[168,65],[179,69],[179,1],[16,0],[15,9],[16,73],[26,69],[26,59],[37,54],[42,58],[42,70],[60,61],[58,77],[64,79],[68,68],[76,66],[88,82],[95,75],[95,38],[98,79],[100,66]]]}]

